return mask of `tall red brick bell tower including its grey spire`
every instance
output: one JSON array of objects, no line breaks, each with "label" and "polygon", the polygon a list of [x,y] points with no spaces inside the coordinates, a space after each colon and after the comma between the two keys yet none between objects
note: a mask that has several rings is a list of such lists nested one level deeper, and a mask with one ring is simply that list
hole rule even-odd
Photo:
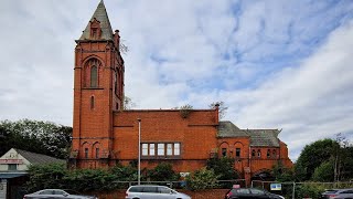
[{"label": "tall red brick bell tower including its grey spire", "polygon": [[119,31],[113,32],[103,0],[75,48],[71,167],[107,167],[113,147],[113,112],[122,108],[124,60]]}]

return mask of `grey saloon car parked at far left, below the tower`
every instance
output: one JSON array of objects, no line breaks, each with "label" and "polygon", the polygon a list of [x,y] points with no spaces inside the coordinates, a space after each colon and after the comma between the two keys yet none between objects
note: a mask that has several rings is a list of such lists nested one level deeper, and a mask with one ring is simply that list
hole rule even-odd
[{"label": "grey saloon car parked at far left, below the tower", "polygon": [[36,192],[24,195],[23,199],[36,199],[36,198],[67,198],[67,199],[98,199],[95,196],[83,196],[74,190],[62,189],[43,189]]}]

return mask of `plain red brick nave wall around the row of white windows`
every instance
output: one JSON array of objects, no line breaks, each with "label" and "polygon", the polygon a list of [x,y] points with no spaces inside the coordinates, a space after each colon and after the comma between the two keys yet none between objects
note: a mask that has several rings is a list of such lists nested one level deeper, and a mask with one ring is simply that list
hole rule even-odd
[{"label": "plain red brick nave wall around the row of white windows", "polygon": [[[114,116],[114,151],[122,163],[138,158],[138,121],[141,119],[141,143],[180,143],[180,156],[158,157],[173,163],[178,171],[192,171],[205,166],[212,148],[216,148],[215,109],[192,111],[183,118],[180,111],[124,111]],[[150,161],[150,163],[149,163]],[[142,167],[157,165],[142,158]]]}]

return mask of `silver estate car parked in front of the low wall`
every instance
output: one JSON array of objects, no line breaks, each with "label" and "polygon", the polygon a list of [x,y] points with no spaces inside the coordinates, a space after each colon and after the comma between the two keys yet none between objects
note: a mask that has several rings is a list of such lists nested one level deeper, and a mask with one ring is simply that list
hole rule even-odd
[{"label": "silver estate car parked in front of the low wall", "polygon": [[139,185],[131,186],[126,191],[126,199],[191,199],[190,196],[178,192],[165,186]]}]

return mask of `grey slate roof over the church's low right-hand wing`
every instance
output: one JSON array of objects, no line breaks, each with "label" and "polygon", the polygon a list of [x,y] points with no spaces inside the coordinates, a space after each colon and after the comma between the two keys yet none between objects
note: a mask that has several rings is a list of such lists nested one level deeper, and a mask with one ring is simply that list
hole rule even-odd
[{"label": "grey slate roof over the church's low right-hand wing", "polygon": [[249,137],[250,146],[279,147],[278,129],[240,129],[229,121],[220,122],[217,137]]}]

